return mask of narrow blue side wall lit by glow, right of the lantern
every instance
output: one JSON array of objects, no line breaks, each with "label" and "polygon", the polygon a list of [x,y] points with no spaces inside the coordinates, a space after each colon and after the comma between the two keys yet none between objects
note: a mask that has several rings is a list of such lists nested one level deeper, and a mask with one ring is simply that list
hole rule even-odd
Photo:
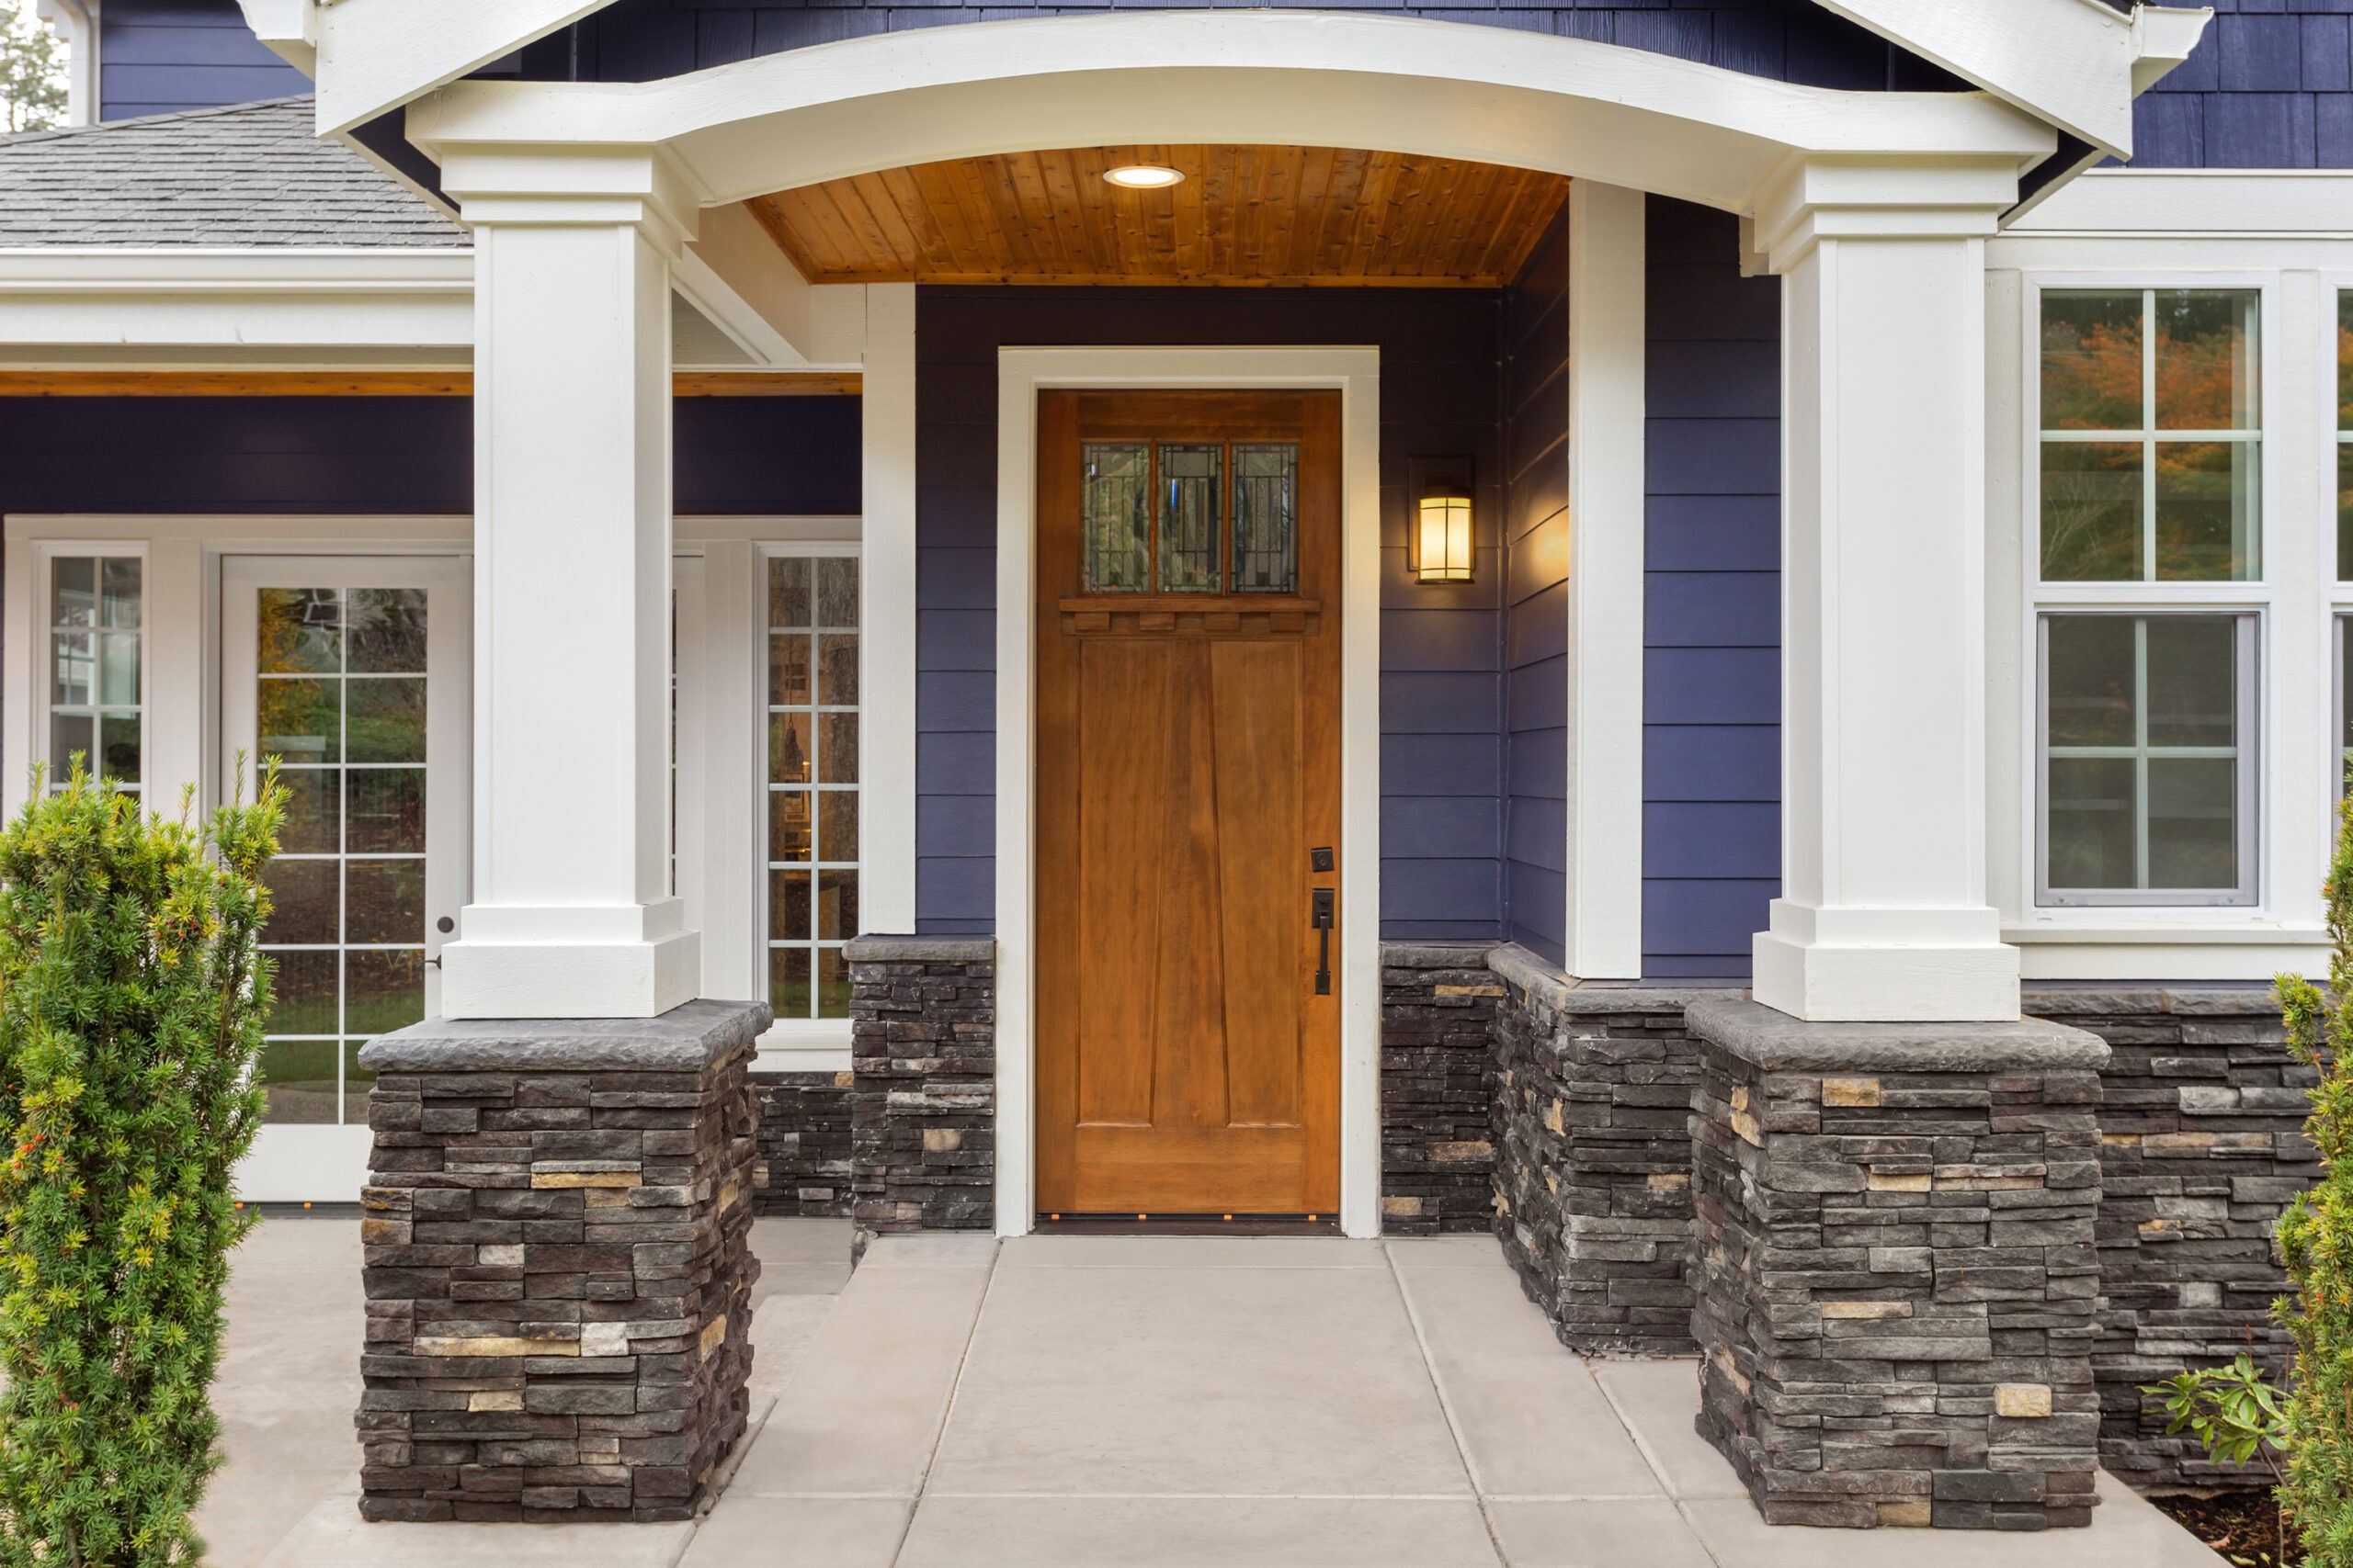
[{"label": "narrow blue side wall lit by glow, right of the lantern", "polygon": [[1562,961],[1569,745],[1569,216],[1504,292],[1504,936]]}]

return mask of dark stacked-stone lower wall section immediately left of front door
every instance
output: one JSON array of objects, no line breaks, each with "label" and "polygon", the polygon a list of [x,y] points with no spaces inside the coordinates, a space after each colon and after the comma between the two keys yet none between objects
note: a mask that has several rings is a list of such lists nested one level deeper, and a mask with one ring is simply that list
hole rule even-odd
[{"label": "dark stacked-stone lower wall section immediately left of front door", "polygon": [[845,957],[859,1229],[988,1229],[998,1180],[998,945],[861,936]]}]

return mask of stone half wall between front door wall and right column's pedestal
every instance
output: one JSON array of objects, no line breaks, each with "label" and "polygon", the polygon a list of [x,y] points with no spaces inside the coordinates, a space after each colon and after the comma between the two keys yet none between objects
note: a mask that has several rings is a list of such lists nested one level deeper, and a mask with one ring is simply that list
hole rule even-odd
[{"label": "stone half wall between front door wall and right column's pedestal", "polygon": [[1692,1352],[1692,1086],[1704,992],[1584,985],[1518,945],[1497,1006],[1494,1229],[1560,1340]]}]

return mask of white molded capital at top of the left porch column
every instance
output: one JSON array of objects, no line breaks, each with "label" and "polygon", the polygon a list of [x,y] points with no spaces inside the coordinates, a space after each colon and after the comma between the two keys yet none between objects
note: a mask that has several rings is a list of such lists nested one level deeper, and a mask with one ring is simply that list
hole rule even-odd
[{"label": "white molded capital at top of the left porch column", "polygon": [[452,143],[442,193],[468,226],[638,228],[671,259],[696,233],[704,195],[661,146]]}]

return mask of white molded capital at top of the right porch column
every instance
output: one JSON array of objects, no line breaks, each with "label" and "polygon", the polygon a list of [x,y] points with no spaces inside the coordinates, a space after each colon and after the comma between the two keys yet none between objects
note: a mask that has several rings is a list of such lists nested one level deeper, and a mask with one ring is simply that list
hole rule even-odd
[{"label": "white molded capital at top of the right porch column", "polygon": [[2007,153],[1812,153],[1758,190],[1748,247],[1788,273],[1819,240],[1984,240],[2017,200]]}]

